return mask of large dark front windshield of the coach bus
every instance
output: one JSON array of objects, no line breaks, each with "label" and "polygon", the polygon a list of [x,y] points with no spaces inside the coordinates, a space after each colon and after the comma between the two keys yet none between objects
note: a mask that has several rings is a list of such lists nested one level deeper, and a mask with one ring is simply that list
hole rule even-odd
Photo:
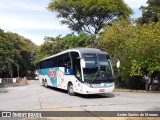
[{"label": "large dark front windshield of the coach bus", "polygon": [[85,82],[113,81],[111,61],[106,54],[85,54],[83,68]]}]

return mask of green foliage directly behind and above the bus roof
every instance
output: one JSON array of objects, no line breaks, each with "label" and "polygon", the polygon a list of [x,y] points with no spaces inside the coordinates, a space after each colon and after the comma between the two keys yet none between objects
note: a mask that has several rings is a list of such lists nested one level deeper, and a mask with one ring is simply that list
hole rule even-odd
[{"label": "green foliage directly behind and above the bus roof", "polygon": [[95,40],[95,35],[89,35],[85,32],[80,32],[78,35],[68,34],[65,37],[57,36],[53,38],[46,36],[45,42],[39,47],[34,61],[38,63],[45,57],[74,47],[92,47]]}]

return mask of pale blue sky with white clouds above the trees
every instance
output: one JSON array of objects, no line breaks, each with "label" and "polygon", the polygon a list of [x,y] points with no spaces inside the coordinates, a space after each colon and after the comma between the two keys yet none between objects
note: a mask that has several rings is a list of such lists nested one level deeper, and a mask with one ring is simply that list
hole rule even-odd
[{"label": "pale blue sky with white clouds above the trees", "polygon": [[[30,39],[37,45],[44,42],[44,37],[65,36],[72,31],[62,25],[56,14],[47,6],[51,0],[0,0],[0,29],[17,33]],[[140,6],[146,6],[147,0],[124,0],[134,14],[141,16]]]}]

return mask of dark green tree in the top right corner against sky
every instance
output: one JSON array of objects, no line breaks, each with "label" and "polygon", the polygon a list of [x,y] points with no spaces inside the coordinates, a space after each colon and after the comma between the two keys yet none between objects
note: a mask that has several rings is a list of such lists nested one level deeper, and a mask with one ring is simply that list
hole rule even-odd
[{"label": "dark green tree in the top right corner against sky", "polygon": [[149,23],[158,22],[160,18],[160,0],[148,0],[148,6],[141,6],[142,17],[139,18],[139,22]]}]

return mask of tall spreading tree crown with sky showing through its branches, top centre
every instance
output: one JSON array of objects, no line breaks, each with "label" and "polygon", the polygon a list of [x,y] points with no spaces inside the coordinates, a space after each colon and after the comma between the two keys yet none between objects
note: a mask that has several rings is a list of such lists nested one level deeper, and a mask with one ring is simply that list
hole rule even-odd
[{"label": "tall spreading tree crown with sky showing through its branches, top centre", "polygon": [[105,24],[132,14],[123,0],[54,0],[48,9],[63,18],[61,23],[73,31],[92,34],[98,34]]}]

